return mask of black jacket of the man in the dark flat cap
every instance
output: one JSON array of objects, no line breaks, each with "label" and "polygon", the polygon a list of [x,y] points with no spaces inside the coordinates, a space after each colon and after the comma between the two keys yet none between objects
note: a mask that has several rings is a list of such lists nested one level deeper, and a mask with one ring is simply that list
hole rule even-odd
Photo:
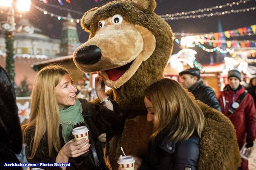
[{"label": "black jacket of the man in the dark flat cap", "polygon": [[197,100],[221,112],[215,92],[209,86],[204,85],[201,79],[192,85],[188,91],[191,92]]}]

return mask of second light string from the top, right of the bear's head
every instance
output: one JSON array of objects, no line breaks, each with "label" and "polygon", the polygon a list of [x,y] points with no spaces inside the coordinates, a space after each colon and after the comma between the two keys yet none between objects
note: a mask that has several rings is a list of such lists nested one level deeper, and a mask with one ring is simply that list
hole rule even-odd
[{"label": "second light string from the top, right of the bear's head", "polygon": [[248,12],[251,10],[255,10],[256,7],[251,7],[251,8],[244,8],[244,9],[237,9],[237,10],[230,10],[230,11],[222,11],[222,12],[215,12],[215,13],[204,13],[201,15],[187,15],[187,16],[180,16],[180,17],[170,17],[170,16],[165,16],[162,17],[165,20],[178,20],[178,19],[189,19],[189,18],[204,18],[204,17],[212,17],[212,16],[221,16],[224,14],[230,14],[230,13],[241,13],[241,12]]}]

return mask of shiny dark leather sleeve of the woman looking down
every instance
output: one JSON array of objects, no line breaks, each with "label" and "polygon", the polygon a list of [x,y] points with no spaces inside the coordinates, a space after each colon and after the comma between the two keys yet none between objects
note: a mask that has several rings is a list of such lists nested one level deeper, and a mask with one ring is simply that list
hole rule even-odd
[{"label": "shiny dark leather sleeve of the woman looking down", "polygon": [[174,152],[174,170],[197,170],[197,162],[199,159],[199,144],[192,140],[178,142]]}]

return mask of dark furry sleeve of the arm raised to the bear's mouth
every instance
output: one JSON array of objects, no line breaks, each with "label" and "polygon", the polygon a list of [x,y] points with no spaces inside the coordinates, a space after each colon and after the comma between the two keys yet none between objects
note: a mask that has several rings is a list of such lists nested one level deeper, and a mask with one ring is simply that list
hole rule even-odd
[{"label": "dark furry sleeve of the arm raised to the bear's mouth", "polygon": [[87,100],[79,99],[83,107],[83,115],[90,116],[93,123],[96,125],[99,133],[106,133],[109,138],[115,134],[121,134],[124,126],[124,115],[118,104],[111,100],[114,111],[108,108],[87,102]]}]

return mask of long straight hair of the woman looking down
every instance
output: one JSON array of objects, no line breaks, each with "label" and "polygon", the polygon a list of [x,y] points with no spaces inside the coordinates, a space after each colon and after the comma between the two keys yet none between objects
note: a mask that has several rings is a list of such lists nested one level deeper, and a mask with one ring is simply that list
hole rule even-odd
[{"label": "long straight hair of the woman looking down", "polygon": [[[151,139],[169,125],[169,140],[188,139],[196,130],[201,138],[204,127],[204,115],[195,99],[187,91],[170,79],[156,81],[145,90],[155,109],[154,133]],[[171,122],[171,123],[170,123]]]}]

